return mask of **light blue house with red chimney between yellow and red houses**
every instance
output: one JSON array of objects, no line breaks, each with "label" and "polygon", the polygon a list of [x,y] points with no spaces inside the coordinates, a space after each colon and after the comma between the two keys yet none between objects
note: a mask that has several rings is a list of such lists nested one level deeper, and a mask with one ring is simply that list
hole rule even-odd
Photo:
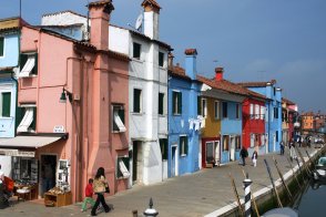
[{"label": "light blue house with red chimney between yellow and red houses", "polygon": [[223,68],[216,68],[215,78],[212,80],[200,76],[200,81],[211,87],[202,92],[202,95],[214,97],[216,102],[214,106],[218,106],[214,110],[216,113],[214,116],[221,120],[220,131],[215,132],[221,140],[221,147],[217,148],[216,155],[218,156],[215,156],[215,158],[221,164],[240,158],[242,148],[242,102],[248,96],[246,89],[224,80],[223,71]]}]

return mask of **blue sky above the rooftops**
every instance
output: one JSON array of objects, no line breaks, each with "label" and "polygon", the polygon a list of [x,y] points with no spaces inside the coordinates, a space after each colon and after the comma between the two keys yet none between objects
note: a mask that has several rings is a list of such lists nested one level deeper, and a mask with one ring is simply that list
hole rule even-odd
[{"label": "blue sky above the rooftops", "polygon": [[[88,0],[21,0],[22,18],[40,24],[44,13],[86,14]],[[91,0],[90,0],[91,1]],[[44,3],[45,2],[45,3]],[[197,71],[215,66],[233,82],[277,80],[283,96],[299,111],[326,113],[325,0],[157,0],[160,40],[184,64],[184,50],[197,49]],[[134,24],[142,0],[113,0],[111,23]],[[19,14],[19,0],[1,0],[0,18]],[[216,62],[217,61],[217,62]]]}]

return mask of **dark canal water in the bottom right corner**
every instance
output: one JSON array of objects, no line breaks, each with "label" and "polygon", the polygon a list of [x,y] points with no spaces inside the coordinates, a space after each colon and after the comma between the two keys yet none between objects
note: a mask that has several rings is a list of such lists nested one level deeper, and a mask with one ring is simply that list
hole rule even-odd
[{"label": "dark canal water in the bottom right corner", "polygon": [[299,217],[325,217],[326,183],[308,182],[293,208],[298,210]]}]

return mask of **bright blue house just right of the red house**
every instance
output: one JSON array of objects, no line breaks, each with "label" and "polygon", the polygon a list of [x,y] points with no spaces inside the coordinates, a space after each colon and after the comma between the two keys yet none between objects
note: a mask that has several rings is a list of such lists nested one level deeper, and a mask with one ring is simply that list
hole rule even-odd
[{"label": "bright blue house just right of the red house", "polygon": [[275,80],[240,84],[266,96],[265,137],[268,141],[266,153],[279,152],[279,143],[282,141],[282,90],[276,87]]}]

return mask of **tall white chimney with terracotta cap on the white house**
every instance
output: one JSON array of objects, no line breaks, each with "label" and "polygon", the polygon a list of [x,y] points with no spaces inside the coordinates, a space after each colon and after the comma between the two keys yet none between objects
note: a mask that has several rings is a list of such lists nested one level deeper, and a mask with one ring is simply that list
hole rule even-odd
[{"label": "tall white chimney with terracotta cap on the white house", "polygon": [[151,39],[159,40],[159,14],[161,7],[155,0],[144,0],[144,34]]}]

